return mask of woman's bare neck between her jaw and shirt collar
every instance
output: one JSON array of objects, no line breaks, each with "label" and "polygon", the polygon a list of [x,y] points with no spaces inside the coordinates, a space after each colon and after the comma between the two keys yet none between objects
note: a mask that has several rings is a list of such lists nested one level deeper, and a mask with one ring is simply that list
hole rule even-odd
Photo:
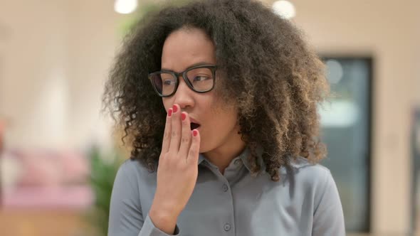
[{"label": "woman's bare neck between her jaw and shirt collar", "polygon": [[237,134],[237,136],[230,137],[229,141],[224,142],[223,145],[216,149],[205,152],[204,156],[206,156],[206,159],[217,166],[219,171],[224,174],[225,168],[229,166],[229,163],[231,163],[236,156],[239,156],[242,153],[245,147],[246,144],[242,141],[241,134]]}]

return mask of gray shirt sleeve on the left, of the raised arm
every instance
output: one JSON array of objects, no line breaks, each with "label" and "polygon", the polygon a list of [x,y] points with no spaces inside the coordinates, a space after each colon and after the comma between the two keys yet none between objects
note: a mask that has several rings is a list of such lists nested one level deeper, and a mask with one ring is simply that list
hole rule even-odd
[{"label": "gray shirt sleeve on the left, of the raised arm", "polygon": [[[133,166],[127,160],[118,169],[110,200],[108,236],[169,236],[154,226],[140,205],[140,188]],[[179,235],[178,226],[174,235]]]}]

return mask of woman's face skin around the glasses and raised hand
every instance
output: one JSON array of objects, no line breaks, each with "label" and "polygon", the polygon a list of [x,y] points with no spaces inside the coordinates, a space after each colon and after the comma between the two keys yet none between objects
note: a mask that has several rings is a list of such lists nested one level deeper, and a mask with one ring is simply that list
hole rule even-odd
[{"label": "woman's face skin around the glasses and raised hand", "polygon": [[[214,43],[204,31],[182,28],[167,37],[162,50],[162,70],[179,73],[199,63],[216,65]],[[198,93],[191,90],[180,76],[177,92],[162,98],[166,110],[178,104],[181,112],[187,112],[190,119],[200,124],[201,153],[232,149],[232,145],[241,139],[235,107],[228,107],[216,97],[218,80],[221,78],[216,78],[214,90]]]}]

